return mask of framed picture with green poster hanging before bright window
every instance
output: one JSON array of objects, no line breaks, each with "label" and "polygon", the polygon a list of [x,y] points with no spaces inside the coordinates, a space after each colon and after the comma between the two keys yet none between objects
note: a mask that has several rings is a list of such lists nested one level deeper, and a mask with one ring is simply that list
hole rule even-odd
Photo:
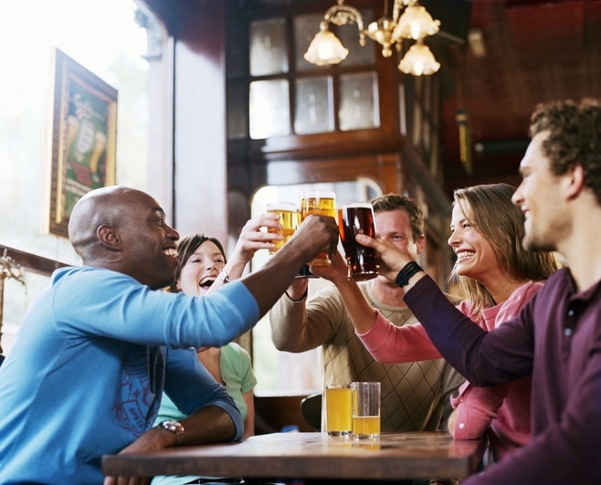
[{"label": "framed picture with green poster hanging before bright window", "polygon": [[47,230],[68,237],[79,198],[115,184],[117,90],[60,49],[54,54]]}]

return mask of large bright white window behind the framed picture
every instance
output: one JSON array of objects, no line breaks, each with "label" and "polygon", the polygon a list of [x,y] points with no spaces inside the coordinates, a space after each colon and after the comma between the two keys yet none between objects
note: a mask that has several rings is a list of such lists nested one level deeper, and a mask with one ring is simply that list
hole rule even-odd
[{"label": "large bright white window behind the framed picture", "polygon": [[[117,183],[142,190],[148,185],[149,61],[145,56],[152,56],[154,50],[147,51],[153,45],[146,28],[136,24],[135,11],[131,0],[69,5],[0,2],[0,18],[6,20],[2,35],[13,44],[5,42],[0,55],[5,73],[0,79],[0,206],[10,207],[0,220],[0,243],[5,246],[80,264],[67,238],[40,230],[46,229],[50,204],[52,153],[47,138],[52,128],[48,107],[54,103],[52,47],[60,46],[70,58],[119,90]],[[74,18],[97,21],[88,22],[82,31]],[[146,25],[154,32],[150,23]],[[111,26],[111,42],[99,43],[107,37],[107,25]],[[155,110],[160,113],[159,108]],[[35,296],[33,289],[29,296]],[[5,304],[8,299],[6,295]]]}]

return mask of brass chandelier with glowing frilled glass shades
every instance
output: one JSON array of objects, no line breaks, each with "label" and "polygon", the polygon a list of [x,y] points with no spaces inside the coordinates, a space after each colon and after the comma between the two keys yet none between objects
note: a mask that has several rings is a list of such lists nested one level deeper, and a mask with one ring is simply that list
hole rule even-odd
[{"label": "brass chandelier with glowing frilled glass shades", "polygon": [[[400,51],[405,39],[413,39],[416,43],[409,48],[398,64],[398,69],[406,74],[421,76],[438,71],[440,64],[432,51],[424,43],[424,38],[438,33],[440,22],[433,20],[426,8],[417,0],[394,0],[392,17],[388,16],[388,1],[385,0],[384,16],[364,28],[364,19],[359,10],[345,5],[344,0],[337,0],[323,16],[320,31],[313,37],[304,55],[305,60],[317,66],[339,64],[346,56],[348,49],[330,30],[329,24],[345,26],[356,24],[359,30],[359,44],[365,45],[365,37],[382,46],[382,55],[390,58],[392,47]],[[402,12],[402,13],[401,13]]]}]

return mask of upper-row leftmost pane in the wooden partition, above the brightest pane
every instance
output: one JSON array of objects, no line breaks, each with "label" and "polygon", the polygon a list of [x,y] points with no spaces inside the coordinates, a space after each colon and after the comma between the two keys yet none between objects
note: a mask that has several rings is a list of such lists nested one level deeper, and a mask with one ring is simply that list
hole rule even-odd
[{"label": "upper-row leftmost pane in the wooden partition, above the brightest pane", "polygon": [[250,24],[250,75],[288,72],[286,22],[283,18]]}]

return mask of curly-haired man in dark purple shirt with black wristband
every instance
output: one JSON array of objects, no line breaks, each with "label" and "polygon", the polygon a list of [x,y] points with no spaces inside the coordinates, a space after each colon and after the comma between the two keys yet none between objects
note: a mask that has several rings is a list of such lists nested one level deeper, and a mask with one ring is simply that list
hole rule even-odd
[{"label": "curly-haired man in dark purple shirt with black wristband", "polygon": [[465,485],[601,483],[601,101],[540,105],[513,203],[525,248],[555,250],[557,270],[522,312],[492,332],[459,313],[415,255],[370,237],[380,271],[440,353],[474,385],[532,374],[532,441]]}]

